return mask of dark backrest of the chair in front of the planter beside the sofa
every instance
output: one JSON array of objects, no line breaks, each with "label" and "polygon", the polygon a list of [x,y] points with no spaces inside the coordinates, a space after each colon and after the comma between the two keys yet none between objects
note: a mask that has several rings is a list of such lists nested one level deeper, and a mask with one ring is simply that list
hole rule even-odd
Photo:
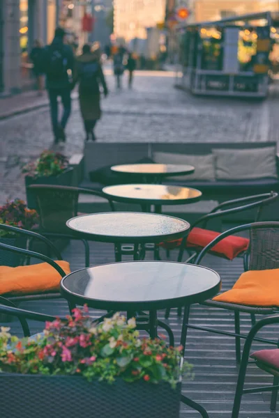
[{"label": "dark backrest of the chair in front of the planter beside the sofa", "polygon": [[40,232],[69,233],[66,221],[77,216],[79,189],[54,185],[31,185],[38,203]]}]

